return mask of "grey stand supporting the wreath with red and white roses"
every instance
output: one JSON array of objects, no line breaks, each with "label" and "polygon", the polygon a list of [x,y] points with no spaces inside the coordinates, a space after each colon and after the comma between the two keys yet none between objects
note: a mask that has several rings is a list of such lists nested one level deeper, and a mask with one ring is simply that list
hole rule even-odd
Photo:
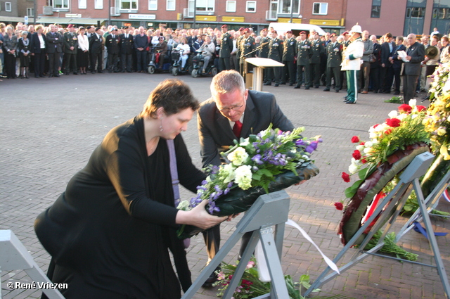
[{"label": "grey stand supporting the wreath with red and white roses", "polygon": [[[448,299],[450,298],[450,284],[449,279],[447,278],[444,264],[442,262],[442,257],[439,253],[439,247],[437,245],[435,232],[433,231],[431,220],[430,220],[430,211],[435,208],[437,205],[437,201],[441,197],[442,193],[445,191],[445,189],[450,184],[450,172],[447,172],[447,174],[441,179],[439,184],[436,186],[436,188],[430,193],[430,195],[424,199],[422,189],[420,189],[420,182],[419,177],[422,177],[425,172],[427,172],[428,168],[430,167],[432,160],[435,158],[434,155],[431,153],[425,152],[421,153],[420,155],[417,155],[416,158],[414,158],[411,163],[406,167],[406,170],[400,175],[399,183],[395,188],[390,191],[389,195],[386,196],[383,199],[383,202],[378,205],[378,207],[375,209],[375,212],[371,215],[371,217],[368,218],[366,222],[361,226],[361,228],[356,231],[354,236],[349,240],[347,245],[342,248],[340,253],[336,255],[333,262],[338,263],[338,261],[347,253],[347,250],[352,248],[352,246],[355,245],[356,240],[364,233],[366,228],[375,220],[375,218],[380,214],[380,212],[383,211],[383,214],[380,216],[380,219],[377,220],[377,222],[373,225],[373,228],[367,236],[364,238],[364,241],[361,242],[359,245],[359,250],[357,250],[356,253],[352,256],[352,259],[344,266],[340,267],[340,272],[345,272],[347,269],[353,267],[354,265],[358,264],[362,260],[364,260],[369,255],[377,255],[382,257],[389,257],[394,260],[401,260],[402,262],[411,262],[418,265],[425,265],[428,267],[435,267],[437,268],[437,272],[439,274],[439,277],[442,282],[442,286],[444,286],[444,293],[445,297]],[[412,185],[412,188],[411,188]],[[430,247],[432,249],[432,253],[435,257],[435,263],[436,265],[428,265],[423,264],[420,262],[413,262],[409,260],[400,259],[397,257],[390,257],[387,255],[380,255],[377,253],[380,248],[385,245],[384,240],[387,233],[390,231],[390,228],[392,224],[397,219],[401,208],[403,208],[404,204],[406,203],[406,199],[409,197],[409,194],[411,193],[412,189],[416,191],[416,196],[418,199],[419,209],[411,216],[409,221],[404,225],[404,227],[399,231],[399,234],[397,234],[396,241],[398,242],[401,236],[404,236],[406,232],[408,232],[410,229],[413,228],[413,222],[417,222],[420,220],[423,220],[425,224],[425,229],[428,232],[428,241],[430,242]],[[404,195],[402,197],[402,195]],[[399,203],[397,205],[397,203]],[[394,210],[395,205],[397,205],[397,209],[394,211],[394,213],[390,213]],[[392,216],[390,216],[392,215]],[[380,240],[378,241],[378,244],[372,248],[371,250],[364,251],[363,249],[366,247],[368,241],[371,240],[373,235],[383,227],[383,224],[386,222],[383,220],[387,220],[387,218],[390,217],[389,222],[387,223],[383,234],[380,236]],[[361,249],[362,248],[362,249]],[[304,296],[309,295],[314,289],[319,288],[323,284],[326,284],[326,282],[333,279],[335,276],[338,275],[338,273],[333,272],[326,276],[330,272],[330,267],[327,267],[314,281],[314,283],[311,285],[310,288],[304,293]],[[287,297],[286,297],[287,298]]]}]

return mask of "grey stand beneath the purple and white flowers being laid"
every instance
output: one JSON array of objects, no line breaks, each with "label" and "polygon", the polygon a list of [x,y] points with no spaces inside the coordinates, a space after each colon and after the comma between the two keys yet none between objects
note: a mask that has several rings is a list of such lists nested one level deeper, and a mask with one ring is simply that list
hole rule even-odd
[{"label": "grey stand beneath the purple and white flowers being laid", "polygon": [[[240,259],[238,267],[233,274],[229,287],[226,289],[224,299],[230,299],[234,290],[239,285],[245,267],[250,261],[252,253],[255,251],[258,241],[261,241],[262,249],[269,274],[271,277],[271,293],[261,295],[256,299],[286,299],[289,298],[288,288],[284,280],[283,269],[281,269],[281,253],[283,250],[283,238],[285,222],[288,220],[290,197],[286,191],[277,191],[259,196],[252,207],[245,212],[244,217],[236,225],[236,231],[230,236],[228,241],[220,248],[210,264],[203,269],[191,288],[181,297],[181,299],[193,298],[203,282],[220,265],[224,257],[233,246],[240,241],[240,238],[248,231],[252,231],[252,236]],[[275,226],[275,229],[273,229]],[[275,232],[275,235],[273,234]]]}]

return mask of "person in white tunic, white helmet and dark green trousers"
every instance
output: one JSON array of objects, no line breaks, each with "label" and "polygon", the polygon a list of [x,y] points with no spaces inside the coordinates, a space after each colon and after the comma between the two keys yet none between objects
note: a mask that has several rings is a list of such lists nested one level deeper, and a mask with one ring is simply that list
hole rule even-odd
[{"label": "person in white tunic, white helmet and dark green trousers", "polygon": [[358,72],[361,68],[361,58],[364,53],[364,42],[361,39],[361,26],[354,25],[350,34],[350,40],[352,41],[347,49],[345,49],[342,56],[342,70],[346,71],[347,74],[347,97],[345,103],[354,104],[358,99]]}]

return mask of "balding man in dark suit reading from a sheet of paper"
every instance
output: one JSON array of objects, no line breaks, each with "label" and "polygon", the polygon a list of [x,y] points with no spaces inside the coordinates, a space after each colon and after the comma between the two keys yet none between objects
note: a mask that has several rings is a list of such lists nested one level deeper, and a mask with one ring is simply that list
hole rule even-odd
[{"label": "balding man in dark suit reading from a sheet of paper", "polygon": [[[420,63],[425,59],[425,46],[416,42],[416,34],[409,34],[407,38],[406,60],[403,73],[403,96],[407,104],[416,93],[417,80],[420,75]],[[399,58],[400,59],[400,58]]]}]

